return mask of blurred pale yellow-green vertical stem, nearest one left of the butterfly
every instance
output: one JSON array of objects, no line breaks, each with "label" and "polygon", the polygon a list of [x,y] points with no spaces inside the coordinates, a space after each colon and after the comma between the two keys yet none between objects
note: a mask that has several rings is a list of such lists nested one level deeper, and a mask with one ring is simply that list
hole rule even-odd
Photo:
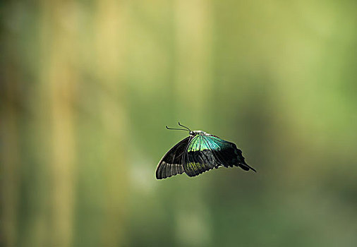
[{"label": "blurred pale yellow-green vertical stem, nearest one left of the butterfly", "polygon": [[[126,99],[123,84],[126,53],[125,3],[97,1],[95,52],[104,146],[104,222],[101,246],[120,246],[124,239],[124,210],[127,193]],[[100,233],[99,233],[100,234]]]}]

